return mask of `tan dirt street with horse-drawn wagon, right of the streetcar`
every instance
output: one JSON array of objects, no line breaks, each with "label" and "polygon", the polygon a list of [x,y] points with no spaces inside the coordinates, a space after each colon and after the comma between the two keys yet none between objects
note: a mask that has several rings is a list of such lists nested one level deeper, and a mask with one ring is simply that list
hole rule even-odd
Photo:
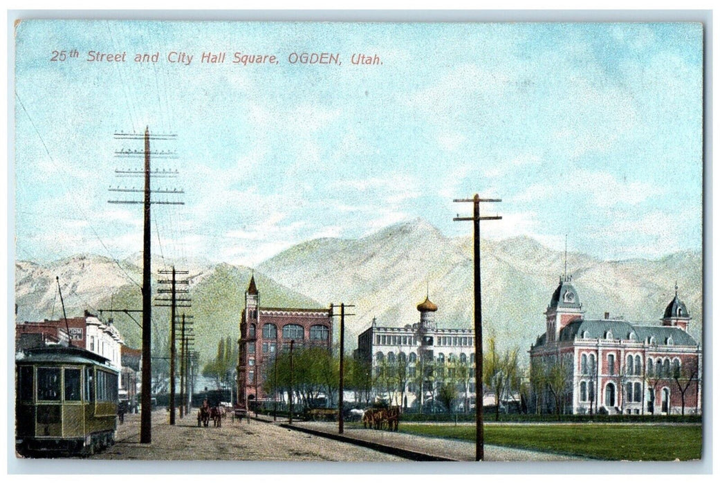
[{"label": "tan dirt street with horse-drawn wagon, right of the streetcar", "polygon": [[126,415],[117,443],[89,459],[96,460],[291,460],[402,461],[382,452],[336,442],[258,421],[222,421],[222,427],[198,427],[194,413],[168,424],[166,411],[153,412],[151,444],[140,444],[140,415]]}]

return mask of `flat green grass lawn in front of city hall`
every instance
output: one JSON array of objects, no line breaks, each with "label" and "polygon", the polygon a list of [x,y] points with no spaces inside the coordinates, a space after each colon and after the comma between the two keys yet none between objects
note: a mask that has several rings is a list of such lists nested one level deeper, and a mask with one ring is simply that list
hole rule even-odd
[{"label": "flat green grass lawn in front of city hall", "polygon": [[[400,423],[408,434],[474,441],[475,426]],[[485,444],[575,454],[600,460],[700,459],[701,425],[493,424]]]}]

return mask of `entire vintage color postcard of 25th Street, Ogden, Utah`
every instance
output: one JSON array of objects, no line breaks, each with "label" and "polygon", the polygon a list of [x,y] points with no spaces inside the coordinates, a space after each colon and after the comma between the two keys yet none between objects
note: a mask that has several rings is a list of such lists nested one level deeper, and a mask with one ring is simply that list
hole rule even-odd
[{"label": "entire vintage color postcard of 25th Street, Ogden, Utah", "polygon": [[701,460],[703,35],[17,22],[14,458]]}]

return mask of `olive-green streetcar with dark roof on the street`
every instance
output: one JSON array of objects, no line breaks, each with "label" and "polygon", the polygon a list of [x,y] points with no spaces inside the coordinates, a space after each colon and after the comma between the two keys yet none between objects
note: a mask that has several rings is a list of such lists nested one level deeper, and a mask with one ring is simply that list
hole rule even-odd
[{"label": "olive-green streetcar with dark roof on the street", "polygon": [[46,346],[15,360],[15,448],[24,457],[91,455],[114,444],[118,371],[86,349]]}]

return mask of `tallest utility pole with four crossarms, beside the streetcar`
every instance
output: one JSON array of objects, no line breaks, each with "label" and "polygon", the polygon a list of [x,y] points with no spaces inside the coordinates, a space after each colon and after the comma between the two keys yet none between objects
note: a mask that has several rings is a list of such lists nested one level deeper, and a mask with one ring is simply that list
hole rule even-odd
[{"label": "tallest utility pole with four crossarms, beside the streetcar", "polygon": [[122,203],[122,204],[143,204],[143,286],[140,288],[143,294],[143,382],[142,382],[142,411],[140,413],[140,443],[150,444],[152,442],[152,400],[150,392],[152,391],[152,354],[151,354],[151,339],[152,339],[152,318],[151,318],[151,300],[152,293],[150,290],[150,205],[151,204],[163,204],[163,205],[183,205],[183,202],[171,202],[171,201],[158,201],[150,200],[151,193],[174,193],[181,194],[181,190],[175,189],[174,191],[169,190],[152,190],[150,189],[150,177],[171,177],[176,176],[177,171],[157,171],[151,173],[150,171],[150,155],[157,156],[158,158],[174,158],[175,153],[169,151],[150,151],[150,140],[175,140],[177,135],[150,135],[150,127],[145,127],[145,133],[115,133],[114,138],[116,140],[143,140],[145,146],[143,150],[122,148],[120,151],[115,152],[116,158],[135,158],[143,157],[145,159],[145,166],[143,170],[137,169],[116,169],[115,176],[118,177],[132,177],[132,176],[143,176],[145,179],[144,189],[135,188],[109,188],[110,192],[126,192],[126,193],[143,193],[143,201],[139,200],[108,200],[109,203]]}]

